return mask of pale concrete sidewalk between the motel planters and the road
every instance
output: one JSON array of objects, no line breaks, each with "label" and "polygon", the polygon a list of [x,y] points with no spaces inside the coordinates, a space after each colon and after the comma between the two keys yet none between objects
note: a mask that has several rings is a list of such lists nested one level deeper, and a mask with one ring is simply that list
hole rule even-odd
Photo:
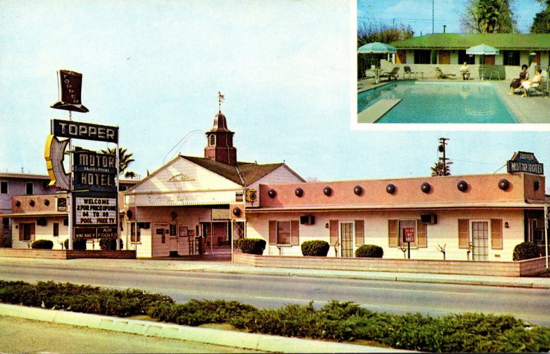
[{"label": "pale concrete sidewalk between the motel planters and the road", "polygon": [[550,278],[545,277],[506,277],[506,276],[461,276],[453,274],[416,274],[397,272],[357,272],[318,269],[287,269],[253,267],[230,262],[183,261],[181,259],[91,259],[72,260],[39,258],[0,258],[2,263],[42,264],[55,267],[76,267],[78,269],[115,268],[148,269],[179,272],[210,272],[227,274],[254,274],[267,276],[303,276],[310,278],[347,278],[360,280],[386,280],[412,283],[439,283],[458,285],[485,285],[494,287],[524,287],[550,289]]}]

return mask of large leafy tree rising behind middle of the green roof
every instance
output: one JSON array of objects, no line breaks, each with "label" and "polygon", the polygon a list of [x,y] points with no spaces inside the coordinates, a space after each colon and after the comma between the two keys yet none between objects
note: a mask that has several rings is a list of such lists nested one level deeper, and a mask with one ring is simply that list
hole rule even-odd
[{"label": "large leafy tree rising behind middle of the green roof", "polygon": [[461,30],[466,33],[517,33],[511,10],[512,0],[468,0],[461,15]]}]

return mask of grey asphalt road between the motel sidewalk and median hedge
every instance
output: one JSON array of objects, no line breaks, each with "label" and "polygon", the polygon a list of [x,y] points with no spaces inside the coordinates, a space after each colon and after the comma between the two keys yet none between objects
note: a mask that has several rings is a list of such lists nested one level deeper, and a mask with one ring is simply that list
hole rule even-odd
[{"label": "grey asphalt road between the motel sidewalk and median hedge", "polygon": [[34,264],[0,264],[3,280],[54,280],[117,289],[159,292],[177,302],[195,299],[239,300],[262,308],[289,303],[323,305],[353,301],[373,311],[421,312],[432,316],[482,312],[510,314],[550,326],[550,289],[404,283],[375,280],[255,276],[143,269],[80,269]]}]

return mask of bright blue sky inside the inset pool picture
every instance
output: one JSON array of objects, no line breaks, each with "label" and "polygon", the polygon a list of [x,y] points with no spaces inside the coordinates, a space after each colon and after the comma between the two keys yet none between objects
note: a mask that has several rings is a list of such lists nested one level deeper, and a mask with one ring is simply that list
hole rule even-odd
[{"label": "bright blue sky inside the inset pool picture", "polygon": [[[410,27],[415,36],[432,33],[461,33],[460,18],[467,0],[358,0],[358,23],[384,23]],[[510,0],[518,29],[529,33],[542,5],[536,0]],[[433,8],[432,8],[433,4]],[[373,16],[375,14],[375,16]],[[433,14],[433,17],[432,17]]]}]

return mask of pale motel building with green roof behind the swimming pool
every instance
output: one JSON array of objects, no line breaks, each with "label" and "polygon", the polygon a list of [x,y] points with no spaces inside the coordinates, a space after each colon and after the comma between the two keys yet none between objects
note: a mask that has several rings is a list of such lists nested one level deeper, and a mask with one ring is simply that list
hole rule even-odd
[{"label": "pale motel building with green roof behind the swimming pool", "polygon": [[[458,76],[460,67],[466,62],[472,78],[480,78],[482,69],[485,78],[499,80],[518,78],[523,64],[529,66],[531,77],[535,74],[535,66],[542,67],[543,76],[547,76],[545,70],[550,67],[550,34],[435,33],[389,44],[397,53],[389,61],[382,60],[382,69],[391,71],[399,66],[399,78],[404,78],[405,66],[418,73],[417,78],[433,78],[435,67]],[[468,48],[482,44],[498,49],[499,53],[466,54]],[[364,69],[364,64],[360,65],[360,73]]]}]

